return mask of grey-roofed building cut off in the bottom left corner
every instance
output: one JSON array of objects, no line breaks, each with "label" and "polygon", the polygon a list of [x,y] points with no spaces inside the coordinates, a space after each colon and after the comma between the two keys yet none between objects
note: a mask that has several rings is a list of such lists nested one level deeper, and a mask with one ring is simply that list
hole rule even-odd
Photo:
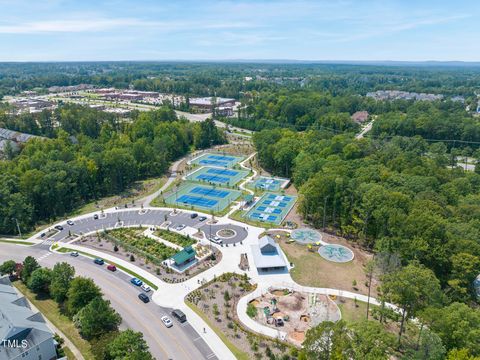
[{"label": "grey-roofed building cut off in the bottom left corner", "polygon": [[51,360],[56,342],[39,312],[30,308],[8,277],[0,278],[0,360]]}]

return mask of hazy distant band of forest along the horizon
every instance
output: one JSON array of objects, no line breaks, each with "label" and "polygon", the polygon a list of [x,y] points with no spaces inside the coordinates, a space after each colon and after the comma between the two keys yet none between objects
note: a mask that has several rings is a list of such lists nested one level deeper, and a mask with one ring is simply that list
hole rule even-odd
[{"label": "hazy distant band of forest along the horizon", "polygon": [[[475,66],[321,63],[73,62],[0,63],[0,97],[81,83],[101,87],[241,98],[253,90],[309,89],[338,95],[397,89],[474,98]],[[245,78],[248,78],[248,81]]]}]

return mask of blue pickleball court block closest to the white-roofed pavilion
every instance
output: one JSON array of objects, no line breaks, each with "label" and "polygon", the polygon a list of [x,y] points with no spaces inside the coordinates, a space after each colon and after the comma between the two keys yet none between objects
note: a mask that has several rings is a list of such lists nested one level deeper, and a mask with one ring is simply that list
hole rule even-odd
[{"label": "blue pickleball court block closest to the white-roofed pavilion", "polygon": [[246,217],[254,221],[280,225],[296,201],[296,196],[267,192],[246,214]]}]

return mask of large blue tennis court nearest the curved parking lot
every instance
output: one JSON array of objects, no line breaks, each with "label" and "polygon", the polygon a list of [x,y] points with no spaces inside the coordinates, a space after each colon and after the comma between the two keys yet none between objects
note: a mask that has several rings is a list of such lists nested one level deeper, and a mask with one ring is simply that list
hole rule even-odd
[{"label": "large blue tennis court nearest the curved parking lot", "polygon": [[207,211],[222,211],[238,199],[238,190],[215,188],[210,185],[187,182],[164,197],[167,204]]}]

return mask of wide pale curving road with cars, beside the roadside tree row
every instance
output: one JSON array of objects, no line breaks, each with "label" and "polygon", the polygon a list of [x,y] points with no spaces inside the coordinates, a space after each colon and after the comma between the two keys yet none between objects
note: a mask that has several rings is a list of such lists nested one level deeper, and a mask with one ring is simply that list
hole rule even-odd
[{"label": "wide pale curving road with cars, beside the roadside tree row", "polygon": [[130,283],[129,275],[121,271],[112,273],[106,269],[106,265],[95,265],[91,259],[82,256],[74,258],[69,255],[59,255],[38,246],[0,244],[0,262],[10,259],[20,262],[29,255],[37,258],[40,265],[46,267],[53,267],[57,262],[66,261],[75,267],[76,275],[92,278],[122,316],[121,328],[142,332],[150,351],[157,360],[217,359],[188,322],[180,324],[171,317],[174,325],[167,329],[160,317],[170,316],[171,309],[162,308],[152,301],[148,304],[141,302],[138,299],[141,290]]}]

